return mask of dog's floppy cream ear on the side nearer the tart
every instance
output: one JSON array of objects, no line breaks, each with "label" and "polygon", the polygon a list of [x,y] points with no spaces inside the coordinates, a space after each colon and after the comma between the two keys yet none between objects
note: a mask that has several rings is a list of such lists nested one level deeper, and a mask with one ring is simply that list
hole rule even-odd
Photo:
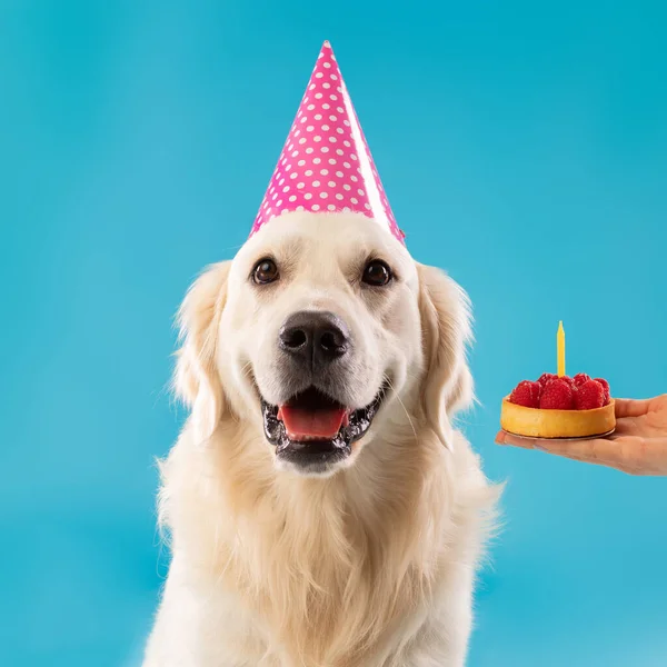
[{"label": "dog's floppy cream ear on the side nearer the tart", "polygon": [[448,449],[450,418],[472,401],[472,376],[466,359],[472,338],[466,292],[439,269],[417,265],[419,312],[426,357],[421,404],[427,421]]}]

